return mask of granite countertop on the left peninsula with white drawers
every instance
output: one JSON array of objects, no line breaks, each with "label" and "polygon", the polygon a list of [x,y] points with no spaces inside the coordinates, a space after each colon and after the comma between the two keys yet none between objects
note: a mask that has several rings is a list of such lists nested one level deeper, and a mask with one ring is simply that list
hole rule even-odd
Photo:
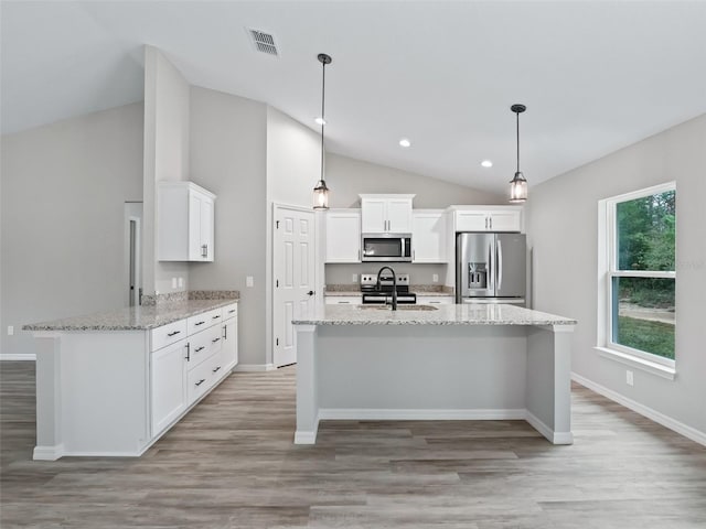
[{"label": "granite countertop on the left peninsula with white drawers", "polygon": [[223,292],[222,296],[212,299],[172,299],[153,305],[126,306],[109,312],[31,323],[23,325],[22,331],[148,331],[238,302],[237,291]]}]

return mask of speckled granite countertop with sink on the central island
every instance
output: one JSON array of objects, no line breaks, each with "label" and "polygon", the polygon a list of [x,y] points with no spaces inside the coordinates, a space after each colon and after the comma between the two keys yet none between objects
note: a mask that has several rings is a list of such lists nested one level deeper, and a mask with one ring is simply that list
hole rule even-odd
[{"label": "speckled granite countertop with sink on the central island", "polygon": [[[370,307],[367,307],[370,306]],[[420,305],[410,305],[420,306]],[[422,305],[424,306],[424,305]],[[510,304],[437,305],[437,310],[397,311],[378,305],[324,305],[295,325],[576,325],[576,320]]]}]

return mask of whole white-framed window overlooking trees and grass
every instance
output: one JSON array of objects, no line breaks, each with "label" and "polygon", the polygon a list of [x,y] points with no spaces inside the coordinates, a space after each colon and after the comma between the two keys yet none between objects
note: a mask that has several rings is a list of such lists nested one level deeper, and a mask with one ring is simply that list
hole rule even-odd
[{"label": "whole white-framed window overlooking trees and grass", "polygon": [[601,201],[601,209],[606,247],[599,345],[673,369],[675,184]]}]

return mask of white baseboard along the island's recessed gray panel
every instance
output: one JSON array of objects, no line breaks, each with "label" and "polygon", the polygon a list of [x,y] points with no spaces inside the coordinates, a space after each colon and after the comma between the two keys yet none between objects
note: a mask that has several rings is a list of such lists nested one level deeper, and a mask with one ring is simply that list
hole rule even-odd
[{"label": "white baseboard along the island's recessed gray panel", "polygon": [[499,421],[524,420],[518,410],[411,410],[370,408],[320,408],[319,419],[359,421]]}]

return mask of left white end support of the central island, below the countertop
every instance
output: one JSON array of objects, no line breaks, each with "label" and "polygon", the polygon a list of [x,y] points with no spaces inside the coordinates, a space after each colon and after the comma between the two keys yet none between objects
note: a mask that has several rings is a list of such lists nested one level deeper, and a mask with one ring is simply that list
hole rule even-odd
[{"label": "left white end support of the central island, below the countertop", "polygon": [[317,326],[297,325],[297,431],[295,444],[314,444],[319,429]]}]

